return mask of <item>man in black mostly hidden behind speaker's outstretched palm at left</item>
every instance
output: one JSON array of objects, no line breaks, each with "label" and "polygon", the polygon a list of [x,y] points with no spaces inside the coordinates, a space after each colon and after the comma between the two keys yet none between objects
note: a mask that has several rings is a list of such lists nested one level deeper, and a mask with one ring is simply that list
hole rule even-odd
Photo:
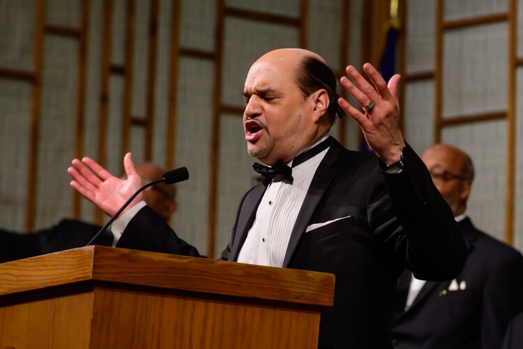
[{"label": "man in black mostly hidden behind speaker's outstretched palm at left", "polygon": [[[150,163],[137,165],[136,171],[144,184],[161,179],[163,174],[160,168]],[[163,220],[169,221],[177,208],[174,194],[174,186],[160,183],[146,189],[143,199]],[[68,218],[50,228],[29,234],[0,229],[0,262],[85,246],[98,230],[98,225]],[[113,241],[113,235],[106,230],[93,244],[112,246]]]}]

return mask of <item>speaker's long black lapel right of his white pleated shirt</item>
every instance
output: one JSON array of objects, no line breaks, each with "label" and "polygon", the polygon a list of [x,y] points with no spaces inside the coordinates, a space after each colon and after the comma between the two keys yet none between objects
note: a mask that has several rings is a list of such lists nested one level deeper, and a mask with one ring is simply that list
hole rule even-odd
[{"label": "speaker's long black lapel right of his white pleated shirt", "polygon": [[305,228],[307,228],[310,218],[312,217],[312,214],[314,214],[314,210],[318,206],[321,197],[324,195],[328,185],[331,184],[331,180],[338,171],[338,168],[333,166],[333,164],[338,160],[338,155],[343,147],[334,138],[331,139],[331,147],[328,149],[327,154],[325,154],[325,157],[319,164],[318,169],[312,178],[309,190],[307,195],[305,195],[305,200],[303,200],[300,212],[296,218],[296,223],[294,224],[294,228],[292,228],[289,245],[285,252],[285,259],[283,260],[282,267],[289,266],[289,262],[294,254],[294,250],[296,250],[296,246],[298,246],[301,235],[305,232]]}]

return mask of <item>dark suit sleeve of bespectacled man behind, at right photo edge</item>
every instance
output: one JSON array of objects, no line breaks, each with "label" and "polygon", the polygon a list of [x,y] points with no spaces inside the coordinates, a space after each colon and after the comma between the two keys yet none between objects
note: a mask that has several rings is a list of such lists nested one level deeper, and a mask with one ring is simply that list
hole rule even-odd
[{"label": "dark suit sleeve of bespectacled man behind, at right photo edge", "polygon": [[508,249],[501,253],[487,257],[497,268],[490,273],[483,290],[481,348],[500,348],[508,323],[523,311],[522,255]]}]

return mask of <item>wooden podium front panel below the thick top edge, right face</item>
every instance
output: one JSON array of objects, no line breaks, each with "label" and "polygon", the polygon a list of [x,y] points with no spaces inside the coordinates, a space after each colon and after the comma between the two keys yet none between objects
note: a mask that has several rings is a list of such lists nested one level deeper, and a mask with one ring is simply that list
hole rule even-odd
[{"label": "wooden podium front panel below the thick top edge, right face", "polygon": [[236,299],[100,288],[93,317],[93,333],[100,336],[91,348],[316,348],[319,317],[294,312]]}]

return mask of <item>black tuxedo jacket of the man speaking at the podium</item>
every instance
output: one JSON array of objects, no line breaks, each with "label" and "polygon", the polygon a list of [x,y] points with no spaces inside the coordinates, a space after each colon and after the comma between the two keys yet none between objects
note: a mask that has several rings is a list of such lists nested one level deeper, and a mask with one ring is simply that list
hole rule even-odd
[{"label": "black tuxedo jacket of the man speaking at the podium", "polygon": [[[332,139],[314,174],[283,267],[336,276],[334,306],[321,313],[320,348],[391,348],[393,295],[404,266],[436,280],[462,268],[466,245],[450,208],[414,151],[407,147],[404,156],[405,170],[386,174],[376,156]],[[260,184],[241,200],[223,260],[238,258],[264,191]],[[305,232],[315,223],[322,226]],[[148,207],[117,246],[198,255]]]}]

